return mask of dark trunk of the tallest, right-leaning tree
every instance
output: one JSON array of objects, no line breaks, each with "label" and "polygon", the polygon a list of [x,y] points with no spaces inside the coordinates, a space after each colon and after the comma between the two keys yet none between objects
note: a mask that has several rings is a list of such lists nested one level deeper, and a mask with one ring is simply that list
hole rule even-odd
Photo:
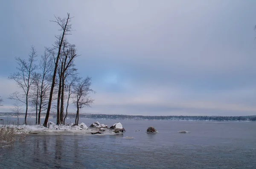
[{"label": "dark trunk of the tallest, right-leaning tree", "polygon": [[48,122],[48,119],[49,119],[49,114],[50,114],[50,109],[51,109],[51,104],[52,104],[52,94],[53,94],[53,89],[54,89],[54,85],[55,85],[56,72],[57,72],[57,68],[58,68],[58,60],[59,60],[59,57],[60,57],[60,54],[61,54],[61,46],[62,46],[62,42],[63,42],[63,39],[64,39],[64,35],[65,35],[65,31],[66,31],[68,21],[69,21],[69,14],[68,14],[68,17],[67,17],[67,22],[65,24],[63,33],[62,33],[61,42],[60,42],[59,48],[58,48],[58,55],[57,55],[57,58],[56,58],[55,68],[54,68],[54,72],[53,72],[53,76],[52,76],[52,86],[51,86],[51,91],[50,91],[50,95],[49,95],[49,103],[48,103],[48,107],[47,107],[47,113],[46,113],[45,120],[44,120],[44,127],[47,127],[47,122]]}]

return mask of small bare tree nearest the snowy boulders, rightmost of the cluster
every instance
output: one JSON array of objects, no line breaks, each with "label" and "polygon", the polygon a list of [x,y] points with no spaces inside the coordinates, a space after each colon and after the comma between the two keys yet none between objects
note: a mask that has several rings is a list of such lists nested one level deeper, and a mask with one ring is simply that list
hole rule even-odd
[{"label": "small bare tree nearest the snowy boulders, rightmost of the cluster", "polygon": [[92,89],[90,89],[91,78],[87,76],[86,79],[81,79],[76,82],[74,85],[74,97],[73,104],[76,106],[76,120],[75,124],[79,123],[79,111],[84,106],[90,107],[93,104],[94,99],[90,99],[89,94],[95,93]]}]

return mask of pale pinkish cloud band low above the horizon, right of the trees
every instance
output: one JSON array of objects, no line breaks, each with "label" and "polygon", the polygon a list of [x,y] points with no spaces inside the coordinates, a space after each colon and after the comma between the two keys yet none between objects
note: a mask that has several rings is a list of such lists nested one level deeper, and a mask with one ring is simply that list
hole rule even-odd
[{"label": "pale pinkish cloud band low above the horizon, right of the trees", "polygon": [[230,93],[230,95],[225,95],[226,98],[224,98],[224,93],[200,96],[178,88],[170,91],[170,88],[146,89],[131,95],[96,94],[98,96],[94,96],[96,100],[92,110],[136,115],[177,115],[177,113],[182,113],[182,115],[251,115],[256,111],[254,104],[241,104],[244,98],[239,101],[228,99],[233,97],[236,91],[227,91],[226,94]]}]

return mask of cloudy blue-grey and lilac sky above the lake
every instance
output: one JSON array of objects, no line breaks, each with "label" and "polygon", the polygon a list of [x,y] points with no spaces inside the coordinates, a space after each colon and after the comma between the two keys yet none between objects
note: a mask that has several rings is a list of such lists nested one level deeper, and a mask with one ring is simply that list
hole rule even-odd
[{"label": "cloudy blue-grey and lilac sky above the lake", "polygon": [[[255,0],[8,0],[0,6],[0,112],[15,57],[51,47],[70,13],[80,76],[96,94],[81,113],[256,115]],[[75,108],[70,108],[75,112]]]}]

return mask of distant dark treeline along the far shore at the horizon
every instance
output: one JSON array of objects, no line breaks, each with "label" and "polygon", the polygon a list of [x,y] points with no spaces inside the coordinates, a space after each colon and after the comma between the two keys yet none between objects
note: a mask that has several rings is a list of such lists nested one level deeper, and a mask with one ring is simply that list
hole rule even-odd
[{"label": "distant dark treeline along the far shore at the horizon", "polygon": [[[41,117],[46,114],[42,113]],[[0,116],[17,117],[17,113],[0,113]],[[19,113],[19,117],[24,117],[25,113]],[[35,113],[28,113],[28,117],[35,117]],[[50,118],[56,118],[56,114],[51,114]],[[68,118],[76,118],[76,113],[70,113]],[[108,114],[80,114],[80,118],[93,119],[117,119],[117,120],[199,120],[199,121],[256,121],[256,115],[249,116],[189,116],[189,115],[108,115]]]}]

